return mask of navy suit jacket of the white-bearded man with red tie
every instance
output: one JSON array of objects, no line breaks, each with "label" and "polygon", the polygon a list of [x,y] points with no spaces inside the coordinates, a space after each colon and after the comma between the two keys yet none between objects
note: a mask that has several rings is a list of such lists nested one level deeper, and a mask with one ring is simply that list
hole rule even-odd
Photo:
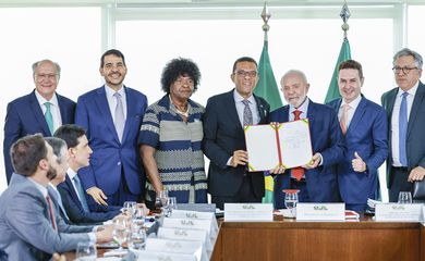
[{"label": "navy suit jacket of the white-bearded man with red tie", "polygon": [[[313,154],[321,153],[323,165],[305,171],[308,197],[312,202],[335,202],[339,200],[337,163],[343,160],[344,144],[338,116],[332,108],[309,100],[307,117],[312,137]],[[289,105],[270,113],[270,122],[289,121]],[[290,171],[277,176],[275,187],[276,208],[284,208],[282,189],[290,188]]]}]

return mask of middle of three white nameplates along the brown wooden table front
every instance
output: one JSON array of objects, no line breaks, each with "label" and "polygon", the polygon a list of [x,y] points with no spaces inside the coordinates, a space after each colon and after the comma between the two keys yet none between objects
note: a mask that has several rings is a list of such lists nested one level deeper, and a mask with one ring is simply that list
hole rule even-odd
[{"label": "middle of three white nameplates along the brown wooden table front", "polygon": [[298,203],[298,221],[345,221],[344,203]]}]

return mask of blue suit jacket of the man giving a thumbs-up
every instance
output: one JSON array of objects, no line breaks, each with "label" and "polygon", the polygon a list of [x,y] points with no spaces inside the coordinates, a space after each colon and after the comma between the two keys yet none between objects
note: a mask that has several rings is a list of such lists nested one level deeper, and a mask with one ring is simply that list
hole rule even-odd
[{"label": "blue suit jacket of the man giving a thumbs-up", "polygon": [[[341,102],[341,98],[329,102],[337,114]],[[384,108],[362,96],[343,136],[345,158],[338,164],[338,185],[345,203],[366,204],[367,198],[377,199],[378,169],[388,154],[387,137],[388,122]],[[366,163],[364,173],[355,172],[352,167],[355,151]]]}]

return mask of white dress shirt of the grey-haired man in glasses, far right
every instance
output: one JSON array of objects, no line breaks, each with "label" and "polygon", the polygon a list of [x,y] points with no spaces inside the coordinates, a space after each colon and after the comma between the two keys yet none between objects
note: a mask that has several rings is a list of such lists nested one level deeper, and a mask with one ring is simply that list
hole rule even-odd
[{"label": "white dress shirt of the grey-haired man in glasses, far right", "polygon": [[[413,99],[415,97],[417,90],[418,82],[415,86],[413,86],[406,92],[409,94],[405,98],[408,101],[408,123],[410,117],[410,112],[412,110]],[[404,90],[399,88],[399,92],[397,94],[394,107],[392,109],[391,115],[391,154],[392,154],[392,165],[393,166],[402,166],[400,163],[399,156],[399,114],[400,114],[400,104]]]}]

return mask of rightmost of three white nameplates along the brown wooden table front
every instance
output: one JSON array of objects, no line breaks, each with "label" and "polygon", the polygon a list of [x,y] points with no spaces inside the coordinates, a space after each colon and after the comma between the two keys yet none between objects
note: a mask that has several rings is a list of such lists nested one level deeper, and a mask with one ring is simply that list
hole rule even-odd
[{"label": "rightmost of three white nameplates along the brown wooden table front", "polygon": [[375,220],[421,222],[422,207],[422,203],[378,203],[375,207]]}]

